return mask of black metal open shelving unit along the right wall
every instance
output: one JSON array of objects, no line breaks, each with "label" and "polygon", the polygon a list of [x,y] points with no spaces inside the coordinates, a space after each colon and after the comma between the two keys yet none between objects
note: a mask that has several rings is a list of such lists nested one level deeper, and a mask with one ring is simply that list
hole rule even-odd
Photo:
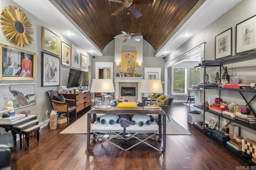
[{"label": "black metal open shelving unit along the right wall", "polygon": [[[221,68],[224,68],[223,65],[225,64],[232,64],[232,63],[238,63],[238,62],[242,62],[242,61],[248,61],[248,60],[253,60],[256,59],[256,51],[253,51],[251,53],[244,53],[244,54],[240,54],[240,55],[234,55],[225,59],[221,59],[221,60],[215,60],[215,61],[209,61],[207,63],[203,63],[200,66],[195,66],[194,68],[204,68],[204,84],[203,86],[196,86],[198,88],[203,88],[203,92],[204,92],[204,100],[206,101],[205,98],[205,91],[206,90],[219,90],[219,97],[221,96],[221,91],[222,90],[230,90],[230,91],[234,91],[234,92],[238,92],[240,94],[240,96],[244,99],[244,101],[246,102],[246,105],[248,107],[250,107],[252,113],[254,113],[254,115],[256,115],[256,112],[254,111],[254,109],[250,106],[250,103],[256,98],[256,90],[255,89],[233,89],[233,88],[219,88],[219,87],[213,87],[213,86],[207,86],[205,83],[205,75],[206,75],[206,68],[208,67],[220,67],[220,75],[221,74]],[[244,93],[255,93],[255,95],[250,99],[250,100],[246,100],[246,98],[244,97]],[[224,115],[222,113],[218,113],[216,111],[212,111],[208,108],[205,108],[205,106],[197,106],[194,105],[194,107],[197,107],[199,109],[202,109],[204,114],[203,114],[203,122],[205,122],[205,112],[207,111],[208,113],[211,113],[213,115],[217,115],[218,116],[218,127],[220,127],[220,117],[228,120],[228,124],[230,124],[231,122],[237,123],[239,125],[242,125],[244,127],[248,127],[250,129],[253,129],[256,131],[256,124],[249,124],[246,123],[244,121],[240,121],[238,119],[236,119],[235,117],[229,117],[227,115]],[[227,125],[228,125],[227,124]],[[226,148],[229,152],[231,152],[232,154],[238,156],[241,160],[244,160],[244,162],[246,162],[249,165],[256,165],[254,164],[251,160],[246,160],[244,157],[242,157],[241,152],[236,151],[234,149],[232,149],[231,147],[226,146],[225,144],[221,143],[220,141],[217,141],[214,137],[212,137],[211,133],[209,133],[208,131],[205,131],[204,128],[200,129],[197,128],[198,130],[202,131],[202,133],[204,133],[205,135],[207,135],[208,137],[210,137],[212,140],[216,141],[217,143],[219,143],[222,147]]]}]

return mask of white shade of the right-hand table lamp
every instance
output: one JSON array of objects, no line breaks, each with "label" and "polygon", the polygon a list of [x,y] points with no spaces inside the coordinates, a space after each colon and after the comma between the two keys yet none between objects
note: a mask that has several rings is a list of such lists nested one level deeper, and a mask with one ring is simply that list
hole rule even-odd
[{"label": "white shade of the right-hand table lamp", "polygon": [[163,93],[161,80],[142,80],[140,93]]}]

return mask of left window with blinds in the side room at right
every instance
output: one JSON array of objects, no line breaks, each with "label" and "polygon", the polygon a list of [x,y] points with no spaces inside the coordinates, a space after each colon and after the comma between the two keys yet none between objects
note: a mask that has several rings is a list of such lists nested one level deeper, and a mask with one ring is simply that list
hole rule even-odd
[{"label": "left window with blinds in the side room at right", "polygon": [[184,94],[186,92],[186,68],[173,69],[173,93]]}]

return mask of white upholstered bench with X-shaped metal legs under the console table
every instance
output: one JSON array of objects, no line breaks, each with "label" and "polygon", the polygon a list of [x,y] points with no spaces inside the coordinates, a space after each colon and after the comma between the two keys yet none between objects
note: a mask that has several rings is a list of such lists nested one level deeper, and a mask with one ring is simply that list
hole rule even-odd
[{"label": "white upholstered bench with X-shaped metal legs under the console table", "polygon": [[[152,145],[146,143],[147,139],[152,139],[154,135],[158,133],[158,129],[159,127],[155,121],[153,121],[150,125],[144,124],[143,126],[139,126],[138,124],[135,124],[135,125],[130,125],[125,129],[124,127],[121,127],[119,123],[114,123],[113,125],[110,125],[110,124],[102,124],[100,122],[95,122],[91,127],[91,132],[96,135],[94,140],[98,138],[101,138],[104,140],[104,142],[96,145],[95,147],[98,147],[99,145],[102,145],[105,142],[109,142],[112,145],[122,150],[130,150],[131,148],[135,147],[140,143],[145,143],[146,145],[152,147],[153,149],[159,150],[156,147],[153,147]],[[134,145],[130,146],[127,149],[124,149],[111,141],[112,139],[128,140],[133,137],[138,139],[139,142],[135,143]]]}]

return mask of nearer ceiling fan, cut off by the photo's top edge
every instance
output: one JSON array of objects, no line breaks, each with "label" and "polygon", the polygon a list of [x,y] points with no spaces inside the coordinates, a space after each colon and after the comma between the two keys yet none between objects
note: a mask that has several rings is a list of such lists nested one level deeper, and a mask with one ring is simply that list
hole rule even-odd
[{"label": "nearer ceiling fan, cut off by the photo's top edge", "polygon": [[[139,18],[140,16],[142,16],[142,14],[136,10],[136,8],[134,8],[133,6],[131,6],[132,4],[135,5],[139,5],[139,4],[153,4],[154,0],[108,0],[108,1],[112,1],[112,2],[117,2],[117,3],[123,3],[124,6],[121,6],[120,8],[118,8],[116,11],[114,11],[111,15],[112,16],[116,16],[117,14],[119,14],[119,12],[121,12],[124,8],[129,8],[130,11],[132,12],[132,14],[136,17]],[[133,1],[133,2],[132,2]]]}]

